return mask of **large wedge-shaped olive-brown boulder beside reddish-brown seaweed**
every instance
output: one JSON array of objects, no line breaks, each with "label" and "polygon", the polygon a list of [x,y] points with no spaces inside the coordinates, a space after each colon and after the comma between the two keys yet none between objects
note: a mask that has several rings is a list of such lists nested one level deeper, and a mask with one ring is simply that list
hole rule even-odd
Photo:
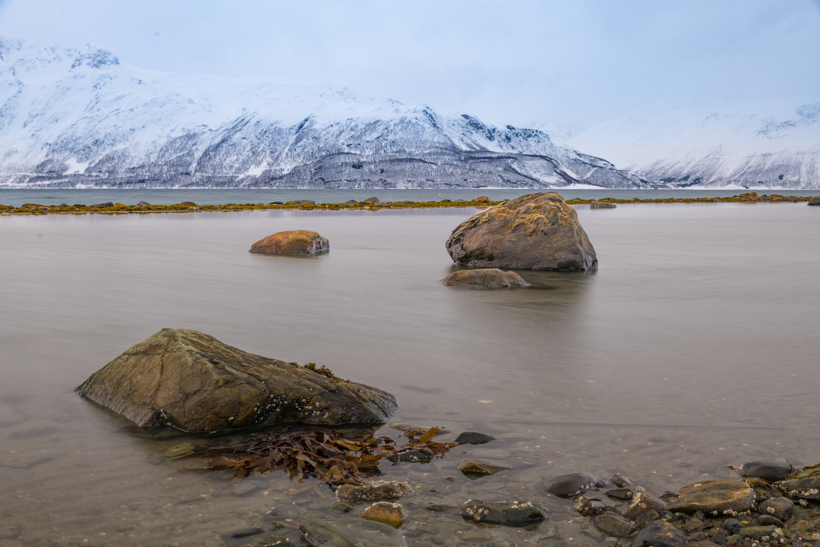
[{"label": "large wedge-shaped olive-brown boulder beside reddish-brown seaweed", "polygon": [[246,353],[184,329],[162,329],[126,349],[76,391],[138,426],[191,432],[381,423],[398,406],[393,395],[340,380],[325,367]]}]

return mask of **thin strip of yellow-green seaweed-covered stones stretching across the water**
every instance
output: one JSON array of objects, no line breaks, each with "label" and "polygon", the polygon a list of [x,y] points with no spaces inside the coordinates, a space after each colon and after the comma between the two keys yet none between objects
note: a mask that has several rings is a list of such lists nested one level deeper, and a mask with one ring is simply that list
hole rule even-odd
[{"label": "thin strip of yellow-green seaweed-covered stones stretching across the water", "polygon": [[[797,203],[807,202],[809,197],[801,196],[781,196],[779,194],[769,194],[758,196],[754,192],[746,194],[739,194],[731,198],[651,198],[651,199],[616,199],[616,198],[601,198],[601,199],[567,199],[570,205],[589,204],[593,201],[603,203]],[[508,201],[508,200],[503,200]],[[226,203],[225,205],[189,205],[189,204],[175,204],[175,205],[125,205],[123,203],[114,203],[111,206],[103,205],[83,205],[75,203],[75,205],[40,205],[39,203],[24,203],[21,207],[12,207],[10,205],[0,205],[0,214],[2,215],[44,215],[44,214],[86,214],[86,213],[102,213],[102,214],[121,214],[121,213],[150,213],[150,212],[216,212],[216,211],[252,211],[252,210],[299,210],[299,211],[314,211],[330,210],[339,211],[342,209],[430,209],[435,207],[491,207],[503,203],[502,201],[466,201],[459,199],[458,201],[451,201],[449,199],[442,199],[441,201],[429,202],[361,202],[361,203],[284,203],[281,205],[266,205],[264,203]]]}]

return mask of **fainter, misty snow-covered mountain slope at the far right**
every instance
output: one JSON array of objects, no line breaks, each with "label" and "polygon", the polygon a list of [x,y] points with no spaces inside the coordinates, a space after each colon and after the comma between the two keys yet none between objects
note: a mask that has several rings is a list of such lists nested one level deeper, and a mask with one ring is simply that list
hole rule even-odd
[{"label": "fainter, misty snow-covered mountain slope at the far right", "polygon": [[672,187],[820,188],[820,98],[609,121],[568,144]]}]

